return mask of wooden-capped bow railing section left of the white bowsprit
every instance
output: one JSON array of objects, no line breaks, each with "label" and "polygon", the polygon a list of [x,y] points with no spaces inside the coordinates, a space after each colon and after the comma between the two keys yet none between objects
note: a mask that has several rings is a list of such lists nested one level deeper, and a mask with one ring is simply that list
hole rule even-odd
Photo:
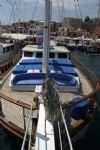
[{"label": "wooden-capped bow railing section left of the white bowsprit", "polygon": [[[23,138],[31,109],[30,104],[14,100],[0,93],[0,122],[11,132]],[[11,129],[12,128],[12,129]],[[15,128],[15,129],[14,129]]]}]

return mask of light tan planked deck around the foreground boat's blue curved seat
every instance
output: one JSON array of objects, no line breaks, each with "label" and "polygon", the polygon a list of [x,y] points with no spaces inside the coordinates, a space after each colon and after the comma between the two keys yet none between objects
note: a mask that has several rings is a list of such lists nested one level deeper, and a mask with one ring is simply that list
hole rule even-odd
[{"label": "light tan planked deck around the foreground boat's blue curved seat", "polygon": [[[89,85],[89,82],[87,82],[86,78],[78,71],[79,78],[80,78],[80,89],[78,93],[59,93],[60,95],[60,101],[63,103],[67,100],[71,100],[75,95],[87,95],[92,91],[91,86]],[[34,98],[34,91],[33,92],[16,92],[11,91],[11,88],[9,87],[9,80],[10,76],[6,79],[4,82],[2,88],[1,88],[1,94],[4,94],[12,99],[14,99],[16,102],[25,102],[27,104],[32,104],[33,98]],[[3,115],[6,116],[7,122],[12,122],[21,129],[25,129],[25,126],[27,124],[27,119],[29,116],[29,110],[26,108],[22,108],[20,106],[17,106],[9,101],[4,100],[1,98],[1,104],[2,104],[2,111]]]}]

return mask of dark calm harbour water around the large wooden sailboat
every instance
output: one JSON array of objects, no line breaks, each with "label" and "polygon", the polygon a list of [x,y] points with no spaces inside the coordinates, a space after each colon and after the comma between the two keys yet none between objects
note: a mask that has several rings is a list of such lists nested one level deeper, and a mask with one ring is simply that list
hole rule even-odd
[{"label": "dark calm harbour water around the large wooden sailboat", "polygon": [[[77,53],[100,79],[100,56]],[[22,141],[0,127],[0,150],[20,150]],[[100,150],[100,115],[98,114],[82,139],[74,144],[74,150]]]}]

